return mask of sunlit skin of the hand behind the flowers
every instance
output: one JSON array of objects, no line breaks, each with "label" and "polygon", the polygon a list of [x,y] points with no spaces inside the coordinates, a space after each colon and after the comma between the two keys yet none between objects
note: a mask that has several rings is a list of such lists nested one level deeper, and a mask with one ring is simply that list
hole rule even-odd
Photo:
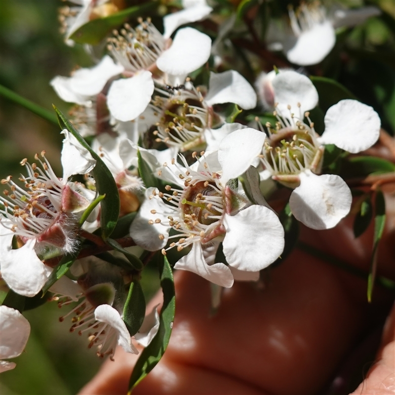
[{"label": "sunlit skin of the hand behind the flowers", "polygon": [[[388,223],[393,222],[391,216]],[[327,231],[305,228],[302,239],[367,272],[372,226],[354,240],[350,224],[352,219]],[[395,274],[393,240],[394,231],[387,229],[379,257],[379,274],[390,278]],[[208,282],[177,272],[169,347],[133,394],[320,393],[394,298],[376,287],[369,307],[366,281],[300,250],[269,277],[264,289],[236,282],[224,292],[217,315],[209,316]],[[394,393],[394,308],[390,315],[377,362],[354,394]],[[80,394],[126,394],[137,358],[119,349],[115,362],[106,361]]]}]

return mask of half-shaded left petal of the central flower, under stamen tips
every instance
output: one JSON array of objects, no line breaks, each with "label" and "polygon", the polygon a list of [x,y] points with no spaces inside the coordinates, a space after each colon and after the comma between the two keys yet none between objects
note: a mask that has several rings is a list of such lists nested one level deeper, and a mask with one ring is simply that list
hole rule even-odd
[{"label": "half-shaded left petal of the central flower, under stamen tips", "polygon": [[[141,205],[137,217],[130,226],[130,237],[133,238],[137,245],[148,251],[157,251],[163,248],[167,243],[170,230],[170,227],[160,223],[150,225],[148,221],[155,221],[155,219],[159,218],[168,222],[167,216],[169,214],[174,214],[174,209],[172,209],[172,207],[165,204],[158,195],[152,195],[154,189],[156,188],[147,189],[145,193],[146,199]],[[150,196],[153,197],[150,199]],[[157,213],[152,214],[151,210],[156,210]],[[161,240],[159,235],[163,235],[164,239]]]}]

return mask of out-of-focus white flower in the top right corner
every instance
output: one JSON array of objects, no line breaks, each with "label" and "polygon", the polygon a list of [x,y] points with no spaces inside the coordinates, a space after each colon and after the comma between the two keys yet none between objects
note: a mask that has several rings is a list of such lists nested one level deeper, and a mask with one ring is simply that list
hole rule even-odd
[{"label": "out-of-focus white flower in the top right corner", "polygon": [[315,65],[334,47],[335,28],[353,26],[379,14],[376,7],[364,7],[358,10],[337,9],[328,15],[327,9],[319,2],[303,3],[296,12],[289,9],[290,31],[284,34],[272,21],[267,40],[272,49],[282,49],[290,62],[300,66]]}]

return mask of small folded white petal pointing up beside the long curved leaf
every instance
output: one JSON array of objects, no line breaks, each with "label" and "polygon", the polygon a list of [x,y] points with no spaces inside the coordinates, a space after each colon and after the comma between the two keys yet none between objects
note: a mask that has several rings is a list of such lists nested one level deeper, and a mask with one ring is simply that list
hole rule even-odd
[{"label": "small folded white petal pointing up beside the long curved leaf", "polygon": [[61,131],[65,135],[61,161],[64,182],[73,174],[89,173],[96,165],[90,152],[79,144],[78,140],[67,129]]}]

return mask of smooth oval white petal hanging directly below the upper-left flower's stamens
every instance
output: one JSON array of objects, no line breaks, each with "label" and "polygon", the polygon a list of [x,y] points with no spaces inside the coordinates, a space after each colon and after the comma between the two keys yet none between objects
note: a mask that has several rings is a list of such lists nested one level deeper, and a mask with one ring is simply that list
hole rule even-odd
[{"label": "smooth oval white petal hanging directly below the upper-left flower's stamens", "polygon": [[153,93],[152,74],[143,70],[131,78],[114,81],[108,91],[107,105],[114,118],[126,122],[147,108]]}]

